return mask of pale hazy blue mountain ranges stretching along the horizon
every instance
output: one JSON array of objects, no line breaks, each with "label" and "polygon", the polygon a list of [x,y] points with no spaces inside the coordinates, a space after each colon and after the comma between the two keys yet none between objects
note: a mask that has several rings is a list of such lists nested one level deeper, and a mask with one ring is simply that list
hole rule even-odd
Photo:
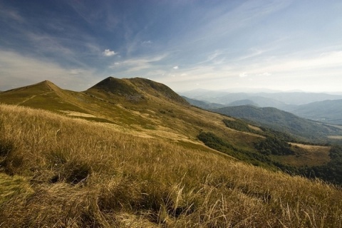
[{"label": "pale hazy blue mountain ranges stretching along the horizon", "polygon": [[[254,105],[259,108],[273,107],[294,113],[302,118],[323,123],[342,125],[342,95],[326,93],[224,93],[199,90],[182,93],[201,108],[220,108],[219,105]],[[204,103],[199,103],[202,101]],[[214,105],[212,104],[214,103]],[[222,107],[221,107],[222,108]]]}]

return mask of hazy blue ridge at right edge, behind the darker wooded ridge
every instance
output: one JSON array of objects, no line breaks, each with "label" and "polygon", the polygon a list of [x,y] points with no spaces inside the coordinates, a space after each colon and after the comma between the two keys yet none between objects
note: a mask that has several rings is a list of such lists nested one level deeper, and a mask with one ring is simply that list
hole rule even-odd
[{"label": "hazy blue ridge at right edge, behind the darker wooded ridge", "polygon": [[317,101],[289,111],[303,118],[342,125],[342,100]]}]

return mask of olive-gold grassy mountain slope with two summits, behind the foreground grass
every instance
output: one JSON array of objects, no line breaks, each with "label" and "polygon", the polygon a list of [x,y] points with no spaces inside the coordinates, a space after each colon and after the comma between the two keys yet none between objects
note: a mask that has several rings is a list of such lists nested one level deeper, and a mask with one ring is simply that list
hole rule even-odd
[{"label": "olive-gold grassy mountain slope with two summits, behind the foreground grass", "polygon": [[[93,115],[86,119],[113,123],[120,131],[180,143],[198,145],[197,135],[201,130],[214,131],[238,147],[251,148],[251,143],[259,140],[255,135],[229,130],[222,123],[222,115],[192,107],[167,86],[142,78],[107,78],[85,93],[62,90],[53,83],[43,82],[1,93],[1,102],[57,113],[61,110],[86,113]],[[78,118],[85,117],[80,114]]]}]

